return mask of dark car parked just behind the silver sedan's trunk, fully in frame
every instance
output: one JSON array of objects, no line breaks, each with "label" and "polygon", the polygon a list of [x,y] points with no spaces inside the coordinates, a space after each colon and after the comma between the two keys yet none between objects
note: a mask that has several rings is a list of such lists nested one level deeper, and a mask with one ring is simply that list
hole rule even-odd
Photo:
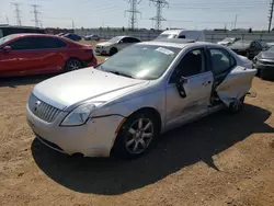
[{"label": "dark car parked just behind the silver sedan's trunk, fully in frame", "polygon": [[244,41],[240,39],[229,46],[238,55],[248,57],[249,59],[254,58],[259,53],[263,50],[263,46],[259,41]]}]

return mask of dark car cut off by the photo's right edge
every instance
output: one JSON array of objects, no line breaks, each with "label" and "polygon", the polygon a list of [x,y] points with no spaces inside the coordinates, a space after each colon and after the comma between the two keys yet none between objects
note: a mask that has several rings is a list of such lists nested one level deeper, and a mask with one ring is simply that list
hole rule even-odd
[{"label": "dark car cut off by the photo's right edge", "polygon": [[253,59],[258,76],[262,79],[274,79],[274,46],[261,52]]}]

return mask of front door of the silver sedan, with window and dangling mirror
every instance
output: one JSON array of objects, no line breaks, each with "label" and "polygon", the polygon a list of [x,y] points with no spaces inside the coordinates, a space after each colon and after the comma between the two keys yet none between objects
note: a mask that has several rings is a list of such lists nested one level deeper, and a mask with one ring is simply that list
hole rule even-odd
[{"label": "front door of the silver sedan, with window and dangling mirror", "polygon": [[[186,79],[182,98],[176,88],[178,78]],[[178,64],[167,87],[167,126],[187,122],[208,111],[213,73],[208,71],[204,48],[190,50]]]}]

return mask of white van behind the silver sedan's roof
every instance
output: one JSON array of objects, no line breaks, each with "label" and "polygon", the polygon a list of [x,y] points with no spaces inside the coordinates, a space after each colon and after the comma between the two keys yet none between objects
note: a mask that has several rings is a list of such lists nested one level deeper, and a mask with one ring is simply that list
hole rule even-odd
[{"label": "white van behind the silver sedan's roof", "polygon": [[204,31],[191,31],[191,30],[167,30],[162,32],[157,39],[159,38],[189,38],[198,42],[206,42]]}]

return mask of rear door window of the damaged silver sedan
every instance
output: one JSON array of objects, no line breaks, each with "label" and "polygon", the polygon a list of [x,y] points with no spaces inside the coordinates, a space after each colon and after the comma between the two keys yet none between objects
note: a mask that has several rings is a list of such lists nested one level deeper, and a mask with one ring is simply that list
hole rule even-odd
[{"label": "rear door window of the damaged silver sedan", "polygon": [[215,76],[221,75],[236,66],[235,58],[228,52],[212,48],[209,53],[212,57],[212,70]]}]

